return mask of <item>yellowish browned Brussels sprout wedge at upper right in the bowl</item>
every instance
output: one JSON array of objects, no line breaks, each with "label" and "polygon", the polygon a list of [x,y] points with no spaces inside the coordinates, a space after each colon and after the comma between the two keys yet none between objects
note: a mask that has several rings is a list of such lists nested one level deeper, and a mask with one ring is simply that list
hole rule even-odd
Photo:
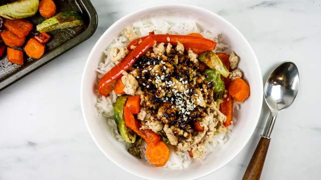
[{"label": "yellowish browned Brussels sprout wedge at upper right in the bowl", "polygon": [[226,69],[225,65],[219,56],[212,51],[206,51],[199,55],[199,59],[206,63],[212,69],[219,71],[224,77],[228,77],[230,72]]}]

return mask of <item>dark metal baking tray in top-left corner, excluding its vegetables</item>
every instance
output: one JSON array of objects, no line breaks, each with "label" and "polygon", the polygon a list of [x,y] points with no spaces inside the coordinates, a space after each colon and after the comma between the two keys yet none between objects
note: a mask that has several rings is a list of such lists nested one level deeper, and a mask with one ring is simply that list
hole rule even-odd
[{"label": "dark metal baking tray in top-left corner, excluding its vegetables", "polygon": [[[0,0],[0,5],[15,0]],[[48,32],[51,39],[46,43],[45,54],[39,59],[25,56],[25,64],[17,65],[8,62],[6,55],[0,58],[0,90],[26,76],[30,72],[63,54],[72,47],[88,39],[96,30],[98,24],[97,12],[90,0],[55,0],[57,12],[76,10],[81,14],[85,24],[83,26],[65,28]],[[41,23],[44,18],[37,12],[27,18],[34,25]]]}]

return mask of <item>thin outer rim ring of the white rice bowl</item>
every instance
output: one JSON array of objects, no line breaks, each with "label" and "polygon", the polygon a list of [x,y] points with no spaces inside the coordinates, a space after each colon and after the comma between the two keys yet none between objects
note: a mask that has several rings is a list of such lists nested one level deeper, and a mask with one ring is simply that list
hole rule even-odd
[{"label": "thin outer rim ring of the white rice bowl", "polygon": [[255,62],[255,66],[260,74],[259,76],[259,82],[260,84],[257,86],[259,88],[259,99],[257,99],[259,101],[258,104],[261,104],[258,109],[257,109],[257,114],[256,114],[256,118],[255,118],[255,121],[253,122],[253,126],[251,128],[251,131],[250,133],[247,133],[247,136],[245,136],[243,139],[243,144],[240,145],[238,147],[238,149],[236,149],[234,151],[233,154],[229,155],[229,158],[227,158],[226,162],[224,163],[220,163],[218,165],[217,168],[213,168],[211,170],[209,170],[207,173],[205,174],[201,174],[200,176],[198,177],[195,177],[195,178],[189,178],[187,177],[186,179],[196,179],[196,178],[201,178],[201,177],[204,177],[204,176],[207,176],[215,171],[217,171],[218,169],[222,168],[223,166],[225,166],[226,164],[228,164],[237,154],[240,153],[240,151],[245,147],[245,145],[248,143],[248,141],[250,140],[251,136],[253,135],[254,133],[254,130],[256,129],[256,126],[257,126],[257,123],[258,123],[258,120],[259,120],[259,117],[260,117],[260,114],[261,114],[261,110],[262,110],[262,102],[263,102],[263,79],[262,79],[262,72],[261,72],[261,68],[259,66],[259,63],[258,63],[258,59],[255,55],[255,52],[252,48],[252,46],[249,44],[249,42],[247,41],[247,39],[244,37],[244,35],[232,24],[230,23],[228,20],[226,20],[225,18],[221,17],[220,15],[218,15],[217,13],[209,10],[209,9],[206,9],[206,8],[203,8],[203,7],[199,7],[199,6],[196,6],[196,5],[190,5],[190,4],[183,4],[183,3],[159,3],[159,4],[153,4],[153,5],[149,5],[149,6],[146,6],[146,7],[143,7],[143,8],[140,8],[140,9],[137,9],[133,12],[130,12],[124,16],[122,16],[121,18],[119,18],[118,20],[116,20],[111,26],[109,26],[105,32],[99,37],[99,39],[96,41],[95,45],[93,46],[93,48],[91,49],[90,53],[89,53],[89,56],[86,60],[86,64],[85,64],[85,67],[83,69],[83,74],[82,74],[82,78],[81,78],[81,86],[80,86],[80,103],[81,103],[81,110],[82,110],[82,115],[83,115],[83,118],[84,118],[84,121],[85,121],[85,124],[86,124],[86,127],[87,127],[87,130],[89,131],[89,134],[91,136],[91,138],[93,139],[93,141],[95,142],[95,144],[98,146],[98,148],[101,150],[101,152],[103,152],[103,154],[108,157],[108,159],[110,161],[112,161],[114,164],[118,165],[120,168],[122,168],[123,170],[131,173],[131,174],[134,174],[138,177],[141,177],[141,178],[145,178],[145,179],[156,179],[154,177],[150,177],[150,176],[144,176],[143,174],[139,174],[139,173],[136,173],[135,171],[131,170],[131,169],[127,169],[125,167],[123,167],[121,165],[121,163],[119,163],[117,160],[115,160],[111,155],[109,155],[108,153],[106,153],[104,151],[104,149],[99,145],[99,143],[97,142],[96,140],[96,137],[93,135],[93,132],[91,130],[91,128],[89,127],[89,124],[88,124],[88,120],[86,118],[86,114],[85,114],[85,108],[84,108],[84,103],[83,103],[83,96],[84,96],[84,92],[83,92],[83,86],[84,86],[84,79],[85,79],[85,72],[86,72],[86,69],[88,68],[88,65],[89,65],[89,59],[90,57],[92,56],[92,54],[94,53],[94,49],[97,48],[98,44],[100,43],[100,41],[102,41],[102,37],[105,36],[106,34],[108,34],[111,29],[114,28],[114,26],[117,26],[120,22],[122,22],[124,19],[132,16],[132,15],[135,15],[137,13],[140,13],[142,11],[145,11],[145,10],[150,10],[150,9],[158,9],[158,8],[163,8],[163,9],[166,9],[167,7],[178,7],[178,8],[192,8],[192,9],[196,9],[196,10],[201,10],[201,11],[205,11],[207,13],[210,13],[212,14],[213,16],[215,16],[216,18],[218,18],[219,20],[221,21],[224,21],[224,23],[228,24],[238,35],[240,35],[240,37],[242,39],[244,39],[244,42],[247,44],[247,46],[249,47],[249,51],[251,52],[251,54],[253,55],[254,57],[254,62]]}]

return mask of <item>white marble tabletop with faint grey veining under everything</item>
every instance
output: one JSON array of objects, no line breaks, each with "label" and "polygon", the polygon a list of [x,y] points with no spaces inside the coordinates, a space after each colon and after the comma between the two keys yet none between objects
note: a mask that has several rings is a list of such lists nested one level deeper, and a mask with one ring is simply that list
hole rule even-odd
[{"label": "white marble tabletop with faint grey veining under everything", "polygon": [[[183,2],[183,0],[167,0]],[[140,179],[94,144],[80,109],[80,79],[99,36],[121,16],[162,0],[92,0],[99,24],[86,42],[0,91],[0,179]],[[234,24],[252,45],[263,79],[284,60],[300,72],[300,90],[275,124],[261,179],[320,179],[320,0],[184,0]],[[227,165],[202,179],[241,179],[263,130]]]}]

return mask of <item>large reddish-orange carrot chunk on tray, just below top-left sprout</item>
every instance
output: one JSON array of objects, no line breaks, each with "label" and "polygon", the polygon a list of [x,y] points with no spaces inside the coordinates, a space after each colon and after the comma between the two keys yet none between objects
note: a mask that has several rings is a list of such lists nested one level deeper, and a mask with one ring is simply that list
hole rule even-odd
[{"label": "large reddish-orange carrot chunk on tray, just below top-left sprout", "polygon": [[32,30],[33,24],[26,19],[7,19],[5,27],[19,37],[25,37]]}]

